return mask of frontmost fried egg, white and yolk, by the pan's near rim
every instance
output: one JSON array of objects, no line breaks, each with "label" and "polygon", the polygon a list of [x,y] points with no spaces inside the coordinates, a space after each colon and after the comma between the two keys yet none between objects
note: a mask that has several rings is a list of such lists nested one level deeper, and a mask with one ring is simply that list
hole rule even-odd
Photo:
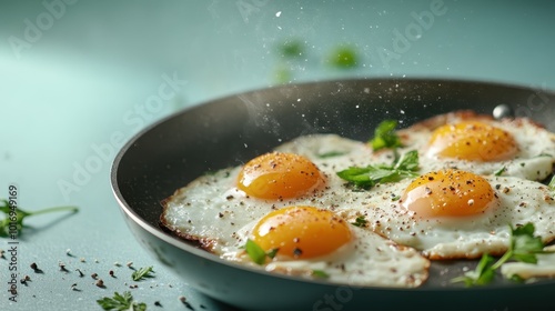
[{"label": "frontmost fried egg, white and yolk, by the pan's near rim", "polygon": [[276,250],[272,260],[255,265],[265,271],[309,278],[322,273],[330,282],[350,285],[412,288],[427,279],[430,261],[416,250],[354,227],[330,210],[285,207],[240,232],[243,238],[223,258],[255,265],[242,248],[250,238],[265,252]]}]

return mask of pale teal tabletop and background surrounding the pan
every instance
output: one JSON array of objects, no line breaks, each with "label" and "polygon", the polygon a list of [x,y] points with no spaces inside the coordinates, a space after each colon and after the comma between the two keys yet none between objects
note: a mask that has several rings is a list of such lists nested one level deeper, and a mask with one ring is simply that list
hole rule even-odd
[{"label": "pale teal tabletop and background surrounding the pan", "polygon": [[[0,198],[14,187],[21,209],[79,212],[36,215],[16,240],[0,238],[0,249],[17,250],[0,259],[0,309],[100,310],[98,299],[130,291],[150,310],[229,310],[130,233],[109,180],[124,141],[186,107],[283,82],[447,78],[555,89],[553,13],[553,1],[2,1]],[[286,44],[301,56],[283,54]],[[355,68],[331,66],[337,47],[356,52]],[[132,281],[128,262],[155,277]]]}]

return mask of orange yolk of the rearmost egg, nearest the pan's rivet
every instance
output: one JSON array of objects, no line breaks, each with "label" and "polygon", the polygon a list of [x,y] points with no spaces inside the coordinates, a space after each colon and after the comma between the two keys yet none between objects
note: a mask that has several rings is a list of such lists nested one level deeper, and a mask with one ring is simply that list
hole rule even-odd
[{"label": "orange yolk of the rearmost egg, nearest the pan's rivet", "polygon": [[432,156],[484,162],[511,159],[516,152],[517,144],[511,133],[478,121],[437,128],[428,149]]}]

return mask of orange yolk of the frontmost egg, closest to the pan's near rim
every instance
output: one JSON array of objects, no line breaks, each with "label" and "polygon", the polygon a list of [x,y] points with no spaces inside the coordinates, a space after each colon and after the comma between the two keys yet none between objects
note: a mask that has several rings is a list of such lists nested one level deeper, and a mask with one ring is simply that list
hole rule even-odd
[{"label": "orange yolk of the frontmost egg, closest to the pan's near rim", "polygon": [[333,212],[314,207],[289,207],[270,212],[252,231],[264,251],[292,259],[330,254],[352,240],[349,224]]}]

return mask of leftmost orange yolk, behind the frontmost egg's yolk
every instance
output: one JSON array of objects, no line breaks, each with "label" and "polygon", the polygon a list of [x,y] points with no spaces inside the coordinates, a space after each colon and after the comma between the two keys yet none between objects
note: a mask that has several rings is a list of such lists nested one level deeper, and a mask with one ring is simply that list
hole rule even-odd
[{"label": "leftmost orange yolk, behind the frontmost egg's yolk", "polygon": [[238,188],[260,199],[287,199],[315,189],[322,181],[320,170],[311,160],[272,152],[252,159],[242,168]]}]

